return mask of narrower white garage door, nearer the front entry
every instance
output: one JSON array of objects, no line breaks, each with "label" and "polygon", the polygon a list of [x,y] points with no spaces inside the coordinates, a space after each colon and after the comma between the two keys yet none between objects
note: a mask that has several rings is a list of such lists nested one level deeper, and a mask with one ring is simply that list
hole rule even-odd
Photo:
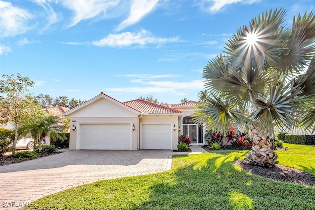
[{"label": "narrower white garage door, nearer the front entry", "polygon": [[168,124],[142,124],[141,149],[172,149],[172,130]]}]

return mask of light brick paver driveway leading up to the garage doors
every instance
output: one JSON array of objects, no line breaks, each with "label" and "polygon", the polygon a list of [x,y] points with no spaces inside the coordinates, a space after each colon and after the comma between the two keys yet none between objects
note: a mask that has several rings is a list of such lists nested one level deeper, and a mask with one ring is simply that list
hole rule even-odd
[{"label": "light brick paver driveway leading up to the garage doors", "polygon": [[[200,147],[192,151],[205,152]],[[171,168],[173,154],[181,152],[64,150],[1,166],[0,209],[19,209],[44,196],[99,180],[163,172]]]}]

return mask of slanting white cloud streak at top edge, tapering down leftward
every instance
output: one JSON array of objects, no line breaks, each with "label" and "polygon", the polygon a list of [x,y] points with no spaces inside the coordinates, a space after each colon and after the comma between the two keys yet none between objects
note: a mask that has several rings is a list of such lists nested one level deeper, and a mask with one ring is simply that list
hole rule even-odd
[{"label": "slanting white cloud streak at top edge, tapering down leftward", "polygon": [[121,22],[116,30],[121,31],[126,27],[137,23],[145,15],[150,13],[157,5],[159,0],[133,0],[130,8],[129,17]]}]

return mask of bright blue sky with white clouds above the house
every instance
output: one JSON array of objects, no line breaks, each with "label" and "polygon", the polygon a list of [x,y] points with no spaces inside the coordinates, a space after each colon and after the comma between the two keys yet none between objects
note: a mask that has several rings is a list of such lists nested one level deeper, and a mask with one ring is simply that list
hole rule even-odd
[{"label": "bright blue sky with white clouds above the house", "polygon": [[259,13],[315,10],[314,0],[0,0],[0,74],[34,95],[198,100],[202,69]]}]

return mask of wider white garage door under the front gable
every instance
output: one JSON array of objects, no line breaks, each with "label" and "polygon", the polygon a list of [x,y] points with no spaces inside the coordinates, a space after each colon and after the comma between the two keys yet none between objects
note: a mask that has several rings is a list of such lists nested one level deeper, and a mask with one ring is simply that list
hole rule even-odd
[{"label": "wider white garage door under the front gable", "polygon": [[130,124],[81,124],[79,149],[130,150]]}]

